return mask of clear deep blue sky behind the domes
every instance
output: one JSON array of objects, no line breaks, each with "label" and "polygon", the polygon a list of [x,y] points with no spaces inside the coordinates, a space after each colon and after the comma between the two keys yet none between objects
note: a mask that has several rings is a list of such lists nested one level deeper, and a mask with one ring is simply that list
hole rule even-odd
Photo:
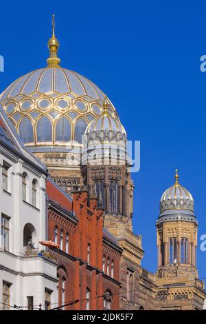
[{"label": "clear deep blue sky behind the domes", "polygon": [[[194,196],[198,243],[206,234],[205,1],[31,1],[1,3],[3,90],[45,66],[52,13],[62,66],[88,77],[113,101],[128,133],[141,141],[134,230],[143,236],[143,266],[157,265],[155,221],[161,194],[180,182]],[[206,252],[198,249],[206,276]]]}]

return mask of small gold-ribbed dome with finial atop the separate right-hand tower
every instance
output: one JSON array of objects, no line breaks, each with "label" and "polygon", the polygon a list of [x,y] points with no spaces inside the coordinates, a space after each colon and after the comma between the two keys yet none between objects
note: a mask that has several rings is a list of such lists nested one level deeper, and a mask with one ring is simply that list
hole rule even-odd
[{"label": "small gold-ribbed dome with finial atop the separate right-hand tower", "polygon": [[194,210],[192,194],[179,183],[179,174],[176,170],[175,183],[161,196],[160,210]]}]

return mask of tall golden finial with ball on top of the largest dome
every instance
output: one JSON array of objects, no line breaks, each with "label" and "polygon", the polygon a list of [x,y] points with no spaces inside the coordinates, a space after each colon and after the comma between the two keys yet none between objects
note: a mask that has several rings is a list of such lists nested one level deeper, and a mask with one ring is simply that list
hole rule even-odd
[{"label": "tall golden finial with ball on top of the largest dome", "polygon": [[47,59],[47,65],[59,68],[60,59],[58,58],[58,55],[57,55],[58,48],[59,48],[59,41],[55,36],[54,14],[52,15],[52,37],[48,41],[48,48],[49,48],[49,59]]}]

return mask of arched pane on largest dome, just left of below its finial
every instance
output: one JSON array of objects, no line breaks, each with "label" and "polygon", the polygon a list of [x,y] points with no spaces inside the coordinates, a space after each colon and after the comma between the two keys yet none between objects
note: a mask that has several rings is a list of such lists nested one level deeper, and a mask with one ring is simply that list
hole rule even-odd
[{"label": "arched pane on largest dome, just left of below its finial", "polygon": [[36,132],[38,142],[52,142],[52,123],[46,116],[39,119]]}]

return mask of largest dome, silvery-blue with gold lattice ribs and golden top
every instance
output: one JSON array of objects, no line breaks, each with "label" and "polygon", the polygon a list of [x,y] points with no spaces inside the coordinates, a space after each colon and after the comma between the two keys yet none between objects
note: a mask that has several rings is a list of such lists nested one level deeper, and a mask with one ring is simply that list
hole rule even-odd
[{"label": "largest dome, silvery-blue with gold lattice ribs and golden top", "polygon": [[[80,145],[89,123],[102,114],[105,98],[89,79],[60,67],[54,32],[48,47],[47,67],[25,74],[0,95],[10,121],[25,145],[34,151]],[[109,100],[108,114],[119,123]]]}]

